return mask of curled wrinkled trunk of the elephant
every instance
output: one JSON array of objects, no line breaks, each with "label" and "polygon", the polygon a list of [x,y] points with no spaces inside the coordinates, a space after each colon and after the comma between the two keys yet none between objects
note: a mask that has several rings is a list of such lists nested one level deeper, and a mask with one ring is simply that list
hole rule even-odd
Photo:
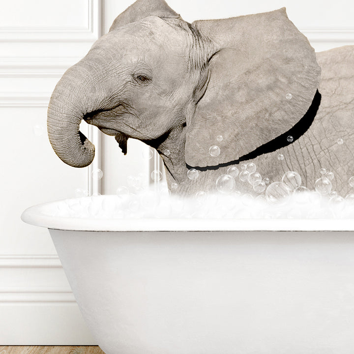
[{"label": "curled wrinkled trunk of the elephant", "polygon": [[81,74],[78,64],[71,67],[54,89],[48,107],[49,141],[59,158],[73,167],[88,166],[94,157],[94,145],[79,130],[91,106],[88,83]]}]

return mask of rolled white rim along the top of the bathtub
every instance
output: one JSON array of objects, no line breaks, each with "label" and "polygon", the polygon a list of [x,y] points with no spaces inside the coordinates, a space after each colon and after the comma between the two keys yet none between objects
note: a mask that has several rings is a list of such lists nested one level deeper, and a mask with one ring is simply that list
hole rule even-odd
[{"label": "rolled white rim along the top of the bathtub", "polygon": [[354,219],[88,219],[51,216],[43,209],[54,201],[27,208],[21,220],[48,229],[103,232],[173,231],[354,231]]}]

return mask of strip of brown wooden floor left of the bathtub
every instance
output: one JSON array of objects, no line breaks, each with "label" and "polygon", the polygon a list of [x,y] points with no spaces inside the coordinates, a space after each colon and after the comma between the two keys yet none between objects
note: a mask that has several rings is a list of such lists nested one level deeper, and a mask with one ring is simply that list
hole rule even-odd
[{"label": "strip of brown wooden floor left of the bathtub", "polygon": [[97,346],[0,346],[0,354],[104,354]]}]

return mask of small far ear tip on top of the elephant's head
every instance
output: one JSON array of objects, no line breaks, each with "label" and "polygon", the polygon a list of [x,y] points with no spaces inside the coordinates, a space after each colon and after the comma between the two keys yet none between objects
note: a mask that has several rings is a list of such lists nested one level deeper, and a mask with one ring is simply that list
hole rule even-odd
[{"label": "small far ear tip on top of the elephant's head", "polygon": [[181,19],[164,0],[137,0],[124,10],[113,22],[110,31],[148,16],[173,17]]}]

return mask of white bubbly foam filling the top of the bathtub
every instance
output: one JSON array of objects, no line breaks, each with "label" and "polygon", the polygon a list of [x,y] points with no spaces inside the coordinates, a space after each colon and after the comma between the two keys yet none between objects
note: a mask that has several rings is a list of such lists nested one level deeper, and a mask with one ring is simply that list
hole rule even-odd
[{"label": "white bubbly foam filling the top of the bathtub", "polygon": [[233,193],[198,194],[192,198],[170,196],[166,191],[98,195],[67,199],[46,209],[47,215],[89,219],[348,219],[354,203],[316,192],[292,193],[269,203],[266,197]]}]

